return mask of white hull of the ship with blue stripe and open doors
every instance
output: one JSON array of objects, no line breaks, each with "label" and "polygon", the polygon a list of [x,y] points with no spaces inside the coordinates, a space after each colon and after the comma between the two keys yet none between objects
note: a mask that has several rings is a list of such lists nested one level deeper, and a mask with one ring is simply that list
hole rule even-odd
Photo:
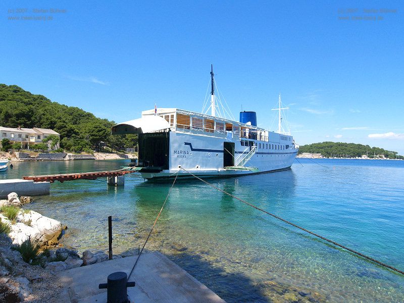
[{"label": "white hull of the ship with blue stripe and open doors", "polygon": [[[251,146],[255,146],[252,155]],[[203,132],[143,134],[139,137],[139,159],[146,159],[147,165],[139,172],[148,180],[170,179],[176,175],[183,179],[192,175],[227,178],[262,174],[289,169],[297,150],[275,132],[270,133],[268,141],[240,140],[226,134],[207,136]],[[248,153],[248,161],[237,166]]]}]

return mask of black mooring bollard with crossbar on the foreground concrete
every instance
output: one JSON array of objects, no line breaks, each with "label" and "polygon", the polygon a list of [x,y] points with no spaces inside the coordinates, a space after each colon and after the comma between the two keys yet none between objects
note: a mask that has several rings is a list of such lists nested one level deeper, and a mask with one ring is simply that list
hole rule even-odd
[{"label": "black mooring bollard with crossbar on the foreground concrete", "polygon": [[108,283],[98,285],[99,289],[107,288],[107,303],[129,303],[127,287],[135,286],[135,282],[128,282],[124,272],[115,272],[108,276]]}]

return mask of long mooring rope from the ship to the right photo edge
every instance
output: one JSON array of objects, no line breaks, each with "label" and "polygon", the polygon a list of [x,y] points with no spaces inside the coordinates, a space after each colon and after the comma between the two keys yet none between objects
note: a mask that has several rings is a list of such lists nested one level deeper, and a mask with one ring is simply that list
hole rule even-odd
[{"label": "long mooring rope from the ship to the right photo edge", "polygon": [[181,169],[183,169],[185,172],[187,172],[187,173],[190,174],[191,176],[195,177],[196,179],[198,179],[198,180],[200,180],[200,181],[202,181],[202,182],[208,184],[209,186],[212,186],[213,188],[216,188],[217,190],[219,190],[219,191],[221,191],[221,192],[223,192],[223,193],[225,193],[225,194],[227,194],[227,195],[229,195],[229,196],[231,196],[231,197],[233,197],[233,198],[235,198],[235,199],[241,201],[242,203],[244,203],[244,204],[246,204],[246,205],[249,205],[250,207],[255,208],[256,210],[259,210],[259,211],[261,211],[261,212],[263,212],[263,213],[266,213],[267,215],[270,215],[270,216],[272,216],[272,217],[274,217],[274,218],[276,218],[276,219],[279,219],[279,220],[281,220],[281,221],[283,221],[283,222],[285,222],[285,223],[287,223],[287,224],[290,224],[290,225],[292,225],[292,226],[294,226],[294,227],[296,227],[296,228],[298,228],[298,229],[301,229],[301,230],[303,230],[303,231],[306,231],[306,232],[308,232],[308,233],[310,233],[310,234],[312,234],[312,235],[314,235],[314,236],[316,236],[316,237],[319,237],[320,239],[326,240],[327,242],[330,242],[330,243],[332,243],[332,244],[334,244],[334,245],[337,245],[337,246],[339,246],[339,247],[341,247],[341,248],[343,248],[343,249],[346,249],[346,250],[348,250],[348,251],[350,251],[350,252],[353,252],[354,254],[356,254],[356,255],[358,255],[358,256],[361,256],[361,257],[363,257],[363,258],[365,258],[365,259],[368,259],[368,260],[370,260],[370,261],[372,261],[372,262],[374,262],[374,263],[376,263],[376,264],[379,264],[379,265],[381,265],[381,266],[384,266],[384,267],[389,268],[389,269],[391,269],[391,270],[393,270],[393,271],[395,271],[395,272],[397,272],[397,273],[400,273],[400,274],[404,275],[404,271],[401,271],[401,270],[399,270],[399,269],[397,269],[397,268],[395,268],[395,267],[392,267],[392,266],[390,266],[390,265],[388,265],[388,264],[385,264],[385,263],[380,262],[380,261],[378,261],[378,260],[376,260],[376,259],[373,259],[373,258],[371,258],[371,257],[369,257],[369,256],[366,256],[366,255],[362,254],[362,253],[359,252],[359,251],[356,251],[356,250],[354,250],[354,249],[348,248],[348,247],[346,247],[346,246],[344,246],[344,245],[342,245],[342,244],[339,244],[339,243],[337,243],[337,242],[335,242],[335,241],[333,241],[333,240],[330,240],[330,239],[327,239],[327,238],[325,238],[325,237],[323,237],[323,236],[320,236],[320,235],[318,235],[318,234],[316,234],[316,233],[314,233],[314,232],[312,232],[312,231],[310,231],[310,230],[308,230],[308,229],[306,229],[306,228],[300,227],[300,226],[298,226],[298,225],[296,225],[296,224],[294,224],[294,223],[292,223],[292,222],[289,222],[289,221],[287,221],[287,220],[285,220],[285,219],[283,219],[283,218],[281,218],[281,217],[278,217],[278,216],[276,216],[276,215],[274,215],[274,214],[271,214],[270,212],[267,212],[266,210],[263,210],[263,209],[261,209],[261,208],[255,206],[255,205],[252,205],[252,204],[248,203],[247,201],[244,201],[243,199],[240,199],[239,197],[236,197],[235,195],[232,195],[231,193],[228,193],[228,192],[226,192],[226,191],[220,189],[219,187],[217,187],[217,186],[215,186],[215,185],[213,185],[213,184],[211,184],[211,183],[209,183],[209,182],[207,182],[207,181],[205,181],[205,180],[199,178],[198,176],[195,176],[194,174],[188,172],[186,169],[184,169],[184,168],[182,168],[182,167],[181,167]]}]

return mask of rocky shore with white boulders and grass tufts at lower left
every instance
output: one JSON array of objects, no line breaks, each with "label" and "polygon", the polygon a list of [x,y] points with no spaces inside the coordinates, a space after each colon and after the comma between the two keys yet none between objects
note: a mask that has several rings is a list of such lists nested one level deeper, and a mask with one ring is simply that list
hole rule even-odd
[{"label": "rocky shore with white boulders and grass tufts at lower left", "polygon": [[[77,250],[58,247],[67,226],[20,208],[31,201],[31,197],[18,197],[14,192],[0,200],[0,302],[69,301],[57,273],[107,261],[108,255],[101,250],[86,250],[80,257]],[[37,246],[37,252],[27,257],[30,248],[24,250],[24,245]],[[132,255],[135,251],[113,259]]]}]

